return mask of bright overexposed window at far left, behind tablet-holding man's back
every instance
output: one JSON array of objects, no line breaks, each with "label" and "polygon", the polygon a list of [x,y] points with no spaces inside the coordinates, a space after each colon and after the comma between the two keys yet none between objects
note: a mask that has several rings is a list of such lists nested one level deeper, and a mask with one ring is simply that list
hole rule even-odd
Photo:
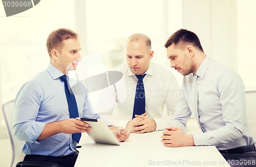
[{"label": "bright overexposed window at far left, behind tablet-holding man's back", "polygon": [[[65,27],[75,30],[73,1],[44,0],[25,12],[5,16],[0,5],[0,104],[14,99],[19,88],[50,62],[49,33]],[[1,123],[0,115],[0,123]]]}]

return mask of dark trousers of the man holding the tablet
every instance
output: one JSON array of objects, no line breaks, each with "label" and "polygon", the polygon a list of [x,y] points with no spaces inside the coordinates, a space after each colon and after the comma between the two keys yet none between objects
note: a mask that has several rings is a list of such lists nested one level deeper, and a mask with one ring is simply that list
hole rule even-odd
[{"label": "dark trousers of the man holding the tablet", "polygon": [[[59,165],[59,167],[72,167],[75,165],[78,151],[74,152],[71,155],[67,156],[43,156],[43,155],[26,155],[24,161],[41,161],[41,162],[54,162]],[[25,166],[25,165],[24,165]]]}]

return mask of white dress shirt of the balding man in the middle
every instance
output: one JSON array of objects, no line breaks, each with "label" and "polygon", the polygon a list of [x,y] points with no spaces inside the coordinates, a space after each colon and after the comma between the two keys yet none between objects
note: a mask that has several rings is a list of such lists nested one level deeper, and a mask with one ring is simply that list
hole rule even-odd
[{"label": "white dress shirt of the balding man in the middle", "polygon": [[[127,63],[114,70],[121,71],[121,81],[100,91],[93,107],[106,120],[116,126],[126,127],[132,120],[135,92],[138,79]],[[175,112],[180,86],[175,76],[162,66],[151,62],[143,79],[147,116],[156,122],[156,130],[165,129]],[[92,99],[91,99],[92,100]],[[94,100],[92,100],[94,101]],[[164,113],[164,107],[166,111]]]}]

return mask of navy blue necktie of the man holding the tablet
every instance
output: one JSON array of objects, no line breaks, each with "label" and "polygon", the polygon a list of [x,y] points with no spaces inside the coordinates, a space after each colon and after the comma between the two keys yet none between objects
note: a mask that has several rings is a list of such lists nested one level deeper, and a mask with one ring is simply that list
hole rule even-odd
[{"label": "navy blue necktie of the man holding the tablet", "polygon": [[[61,79],[61,81],[63,81],[65,83],[64,84],[65,85],[65,93],[66,93],[66,98],[67,98],[67,101],[68,101],[70,118],[79,117],[78,109],[77,109],[77,105],[76,105],[76,99],[75,99],[75,96],[74,96],[72,90],[71,89],[69,90],[70,86],[69,86],[69,83],[67,81],[67,76],[63,75],[59,78]],[[72,137],[78,143],[80,138],[81,138],[81,133],[73,133]]]}]

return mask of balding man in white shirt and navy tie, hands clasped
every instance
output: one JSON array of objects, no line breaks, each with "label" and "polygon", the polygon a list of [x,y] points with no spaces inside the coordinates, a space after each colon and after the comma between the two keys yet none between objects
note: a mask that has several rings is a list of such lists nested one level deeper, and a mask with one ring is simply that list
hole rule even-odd
[{"label": "balding man in white shirt and navy tie, hands clasped", "polygon": [[[111,121],[114,125],[122,125],[134,133],[165,129],[175,112],[180,87],[169,70],[150,61],[153,56],[151,40],[146,35],[133,34],[127,39],[127,63],[114,69],[123,74],[125,84],[116,84],[114,85],[116,87],[112,86],[104,91],[105,93],[100,93],[101,106],[118,104],[114,109],[101,112],[102,118]],[[137,104],[134,105],[138,82],[135,75],[143,74],[145,74],[142,86],[144,87],[145,107],[141,111],[142,114],[137,115],[133,111],[134,106],[137,106]],[[167,113],[164,113],[164,106],[166,106]]]}]

